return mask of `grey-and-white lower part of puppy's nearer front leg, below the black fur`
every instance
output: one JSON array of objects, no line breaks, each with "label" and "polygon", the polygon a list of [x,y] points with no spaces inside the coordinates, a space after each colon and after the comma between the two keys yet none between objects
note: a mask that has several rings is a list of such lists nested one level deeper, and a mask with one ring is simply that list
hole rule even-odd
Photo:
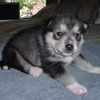
[{"label": "grey-and-white lower part of puppy's nearer front leg, below the black fur", "polygon": [[75,94],[83,94],[87,92],[87,89],[80,85],[68,72],[65,72],[60,77],[56,78],[56,80]]}]

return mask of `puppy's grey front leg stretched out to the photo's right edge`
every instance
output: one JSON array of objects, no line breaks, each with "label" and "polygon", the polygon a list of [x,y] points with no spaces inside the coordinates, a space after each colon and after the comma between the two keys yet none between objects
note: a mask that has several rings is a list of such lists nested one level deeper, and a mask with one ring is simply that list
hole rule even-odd
[{"label": "puppy's grey front leg stretched out to the photo's right edge", "polygon": [[93,66],[81,54],[74,59],[72,65],[90,73],[100,74],[100,67]]}]

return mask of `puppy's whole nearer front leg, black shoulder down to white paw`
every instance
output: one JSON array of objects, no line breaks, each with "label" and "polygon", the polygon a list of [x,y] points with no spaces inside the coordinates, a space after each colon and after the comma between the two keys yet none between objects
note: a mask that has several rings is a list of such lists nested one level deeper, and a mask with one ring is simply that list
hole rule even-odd
[{"label": "puppy's whole nearer front leg, black shoulder down to white paw", "polygon": [[64,87],[76,94],[86,93],[87,89],[80,85],[75,78],[65,70],[65,65],[61,62],[46,61],[44,63],[44,72],[57,80]]}]

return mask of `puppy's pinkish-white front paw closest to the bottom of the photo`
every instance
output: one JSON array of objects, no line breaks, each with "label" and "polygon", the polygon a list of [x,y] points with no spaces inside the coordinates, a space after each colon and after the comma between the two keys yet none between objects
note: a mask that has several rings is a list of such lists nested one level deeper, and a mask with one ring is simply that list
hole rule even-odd
[{"label": "puppy's pinkish-white front paw closest to the bottom of the photo", "polygon": [[87,89],[84,86],[80,85],[79,83],[74,83],[74,84],[68,85],[66,88],[75,94],[87,93]]}]

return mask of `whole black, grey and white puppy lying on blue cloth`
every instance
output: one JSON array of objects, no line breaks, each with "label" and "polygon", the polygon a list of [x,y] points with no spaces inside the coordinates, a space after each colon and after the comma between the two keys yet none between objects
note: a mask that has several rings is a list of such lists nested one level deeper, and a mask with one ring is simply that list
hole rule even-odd
[{"label": "whole black, grey and white puppy lying on blue cloth", "polygon": [[72,64],[91,73],[100,73],[80,54],[87,24],[71,13],[60,13],[46,23],[20,31],[5,45],[0,65],[38,77],[44,71],[76,94],[87,89],[65,70]]}]

